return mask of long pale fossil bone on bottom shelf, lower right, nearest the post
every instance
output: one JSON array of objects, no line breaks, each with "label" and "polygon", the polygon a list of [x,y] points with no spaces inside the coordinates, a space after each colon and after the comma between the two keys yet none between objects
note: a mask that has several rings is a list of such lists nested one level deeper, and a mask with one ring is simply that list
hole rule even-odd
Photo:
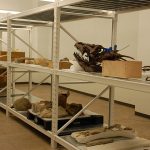
[{"label": "long pale fossil bone on bottom shelf, lower right, nearest the post", "polygon": [[111,127],[101,127],[87,131],[74,132],[71,134],[77,142],[88,143],[98,139],[107,139],[115,137],[135,138],[136,133],[131,128],[122,127],[121,125],[113,125]]}]

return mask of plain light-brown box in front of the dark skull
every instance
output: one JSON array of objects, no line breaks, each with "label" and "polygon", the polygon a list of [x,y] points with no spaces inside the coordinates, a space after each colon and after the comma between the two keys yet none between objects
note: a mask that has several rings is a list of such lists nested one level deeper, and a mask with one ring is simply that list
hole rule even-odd
[{"label": "plain light-brown box in front of the dark skull", "polygon": [[102,63],[102,76],[119,78],[141,78],[141,61],[109,61]]}]

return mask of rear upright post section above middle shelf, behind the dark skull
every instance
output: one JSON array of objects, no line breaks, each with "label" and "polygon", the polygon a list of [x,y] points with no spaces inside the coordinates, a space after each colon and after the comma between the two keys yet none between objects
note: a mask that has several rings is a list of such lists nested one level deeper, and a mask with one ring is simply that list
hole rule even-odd
[{"label": "rear upright post section above middle shelf, behind the dark skull", "polygon": [[117,44],[117,22],[118,22],[118,14],[115,13],[112,18],[112,35],[111,35],[111,46],[112,49],[115,49],[115,45]]}]

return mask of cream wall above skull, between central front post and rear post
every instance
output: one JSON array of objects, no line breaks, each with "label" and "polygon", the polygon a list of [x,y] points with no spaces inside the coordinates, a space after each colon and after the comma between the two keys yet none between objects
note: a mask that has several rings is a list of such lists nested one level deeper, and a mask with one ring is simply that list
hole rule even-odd
[{"label": "cream wall above skull, between central front post and rear post", "polygon": [[[100,44],[105,47],[111,46],[111,20],[108,19],[85,19],[64,23],[63,26],[78,40],[85,43]],[[105,28],[104,28],[105,27]],[[77,51],[73,41],[64,31],[61,31],[60,58],[69,57],[74,59],[73,52]],[[67,55],[66,55],[67,54]]]}]

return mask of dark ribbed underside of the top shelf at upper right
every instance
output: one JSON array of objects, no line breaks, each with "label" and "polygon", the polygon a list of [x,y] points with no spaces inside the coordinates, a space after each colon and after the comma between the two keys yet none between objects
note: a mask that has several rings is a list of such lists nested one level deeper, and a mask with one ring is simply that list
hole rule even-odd
[{"label": "dark ribbed underside of the top shelf at upper right", "polygon": [[116,12],[129,12],[150,7],[149,0],[83,0],[71,6]]}]

